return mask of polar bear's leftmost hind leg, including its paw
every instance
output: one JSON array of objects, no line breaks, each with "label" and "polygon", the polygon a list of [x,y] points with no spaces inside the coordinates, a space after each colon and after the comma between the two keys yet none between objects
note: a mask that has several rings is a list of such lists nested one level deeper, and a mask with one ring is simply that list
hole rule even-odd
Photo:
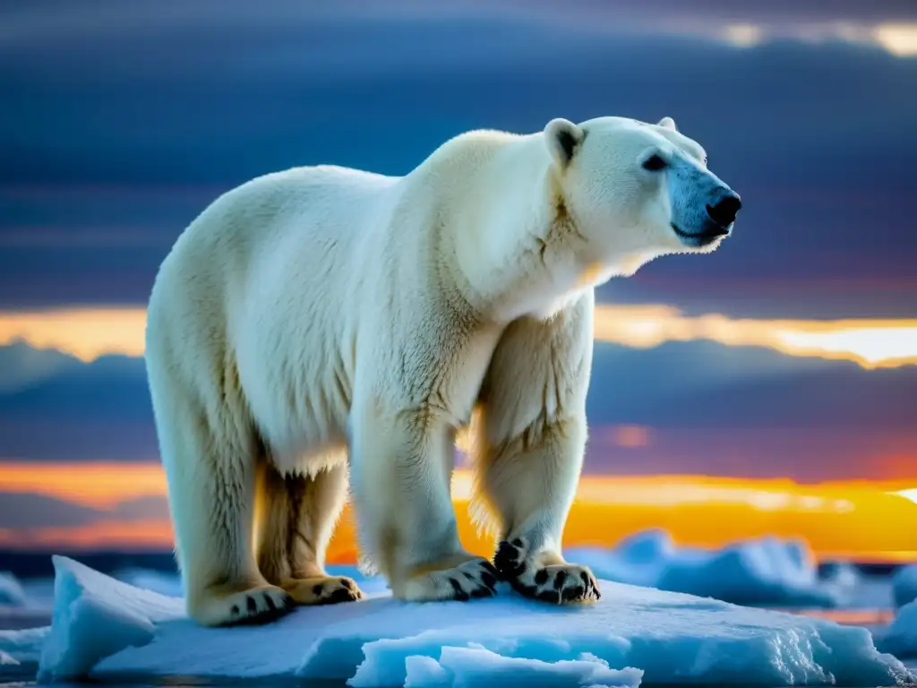
[{"label": "polar bear's leftmost hind leg, including its paw", "polygon": [[293,601],[264,580],[251,547],[254,434],[236,430],[227,406],[208,414],[179,394],[178,380],[153,376],[151,387],[189,616],[204,626],[283,616]]}]

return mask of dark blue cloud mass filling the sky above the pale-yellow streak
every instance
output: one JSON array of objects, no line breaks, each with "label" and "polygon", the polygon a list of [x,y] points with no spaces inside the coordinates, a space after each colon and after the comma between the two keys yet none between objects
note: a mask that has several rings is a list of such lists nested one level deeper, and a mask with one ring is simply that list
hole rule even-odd
[{"label": "dark blue cloud mass filling the sky above the pale-yellow streak", "polygon": [[468,128],[613,113],[675,117],[746,208],[715,256],[659,261],[604,297],[742,316],[913,314],[917,60],[710,39],[735,23],[779,36],[913,20],[912,3],[320,7],[0,10],[0,307],[144,303],[182,227],[262,172],[403,173]]}]

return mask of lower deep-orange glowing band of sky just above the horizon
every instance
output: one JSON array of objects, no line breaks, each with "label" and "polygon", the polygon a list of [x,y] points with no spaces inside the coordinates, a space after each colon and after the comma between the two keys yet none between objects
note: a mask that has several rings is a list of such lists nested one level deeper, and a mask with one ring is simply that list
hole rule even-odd
[{"label": "lower deep-orange glowing band of sky just above the horizon", "polygon": [[[912,483],[911,483],[912,484]],[[900,482],[820,483],[703,476],[595,476],[580,481],[565,545],[612,547],[634,533],[662,528],[680,545],[719,548],[737,540],[802,538],[820,559],[917,560],[917,505]],[[459,535],[469,549],[490,554],[468,517],[471,476],[456,472],[453,495]],[[44,494],[109,511],[149,496],[165,497],[159,464],[0,464],[0,492]],[[76,527],[0,527],[0,547],[16,549],[159,549],[172,547],[171,523],[100,515]],[[328,552],[331,563],[355,560],[353,521],[346,512]]]}]

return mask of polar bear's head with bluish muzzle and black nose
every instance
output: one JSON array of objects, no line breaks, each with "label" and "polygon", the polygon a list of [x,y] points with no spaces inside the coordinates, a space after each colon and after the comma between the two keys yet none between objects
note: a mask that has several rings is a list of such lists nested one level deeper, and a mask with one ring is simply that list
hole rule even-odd
[{"label": "polar bear's head with bluish muzzle and black nose", "polygon": [[656,125],[553,119],[544,138],[589,261],[617,261],[633,272],[667,253],[714,250],[732,231],[739,195],[707,169],[702,147],[670,117]]}]

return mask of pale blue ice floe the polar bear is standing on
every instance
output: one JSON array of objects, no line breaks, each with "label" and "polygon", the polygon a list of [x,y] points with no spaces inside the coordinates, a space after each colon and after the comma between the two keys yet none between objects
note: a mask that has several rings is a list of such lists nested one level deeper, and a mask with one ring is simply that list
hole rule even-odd
[{"label": "pale blue ice floe the polar bear is standing on", "polygon": [[203,628],[182,601],[54,557],[39,681],[299,677],[359,686],[644,683],[893,685],[913,676],[865,628],[602,582],[596,605],[409,604],[387,593],[301,607],[263,627]]}]

